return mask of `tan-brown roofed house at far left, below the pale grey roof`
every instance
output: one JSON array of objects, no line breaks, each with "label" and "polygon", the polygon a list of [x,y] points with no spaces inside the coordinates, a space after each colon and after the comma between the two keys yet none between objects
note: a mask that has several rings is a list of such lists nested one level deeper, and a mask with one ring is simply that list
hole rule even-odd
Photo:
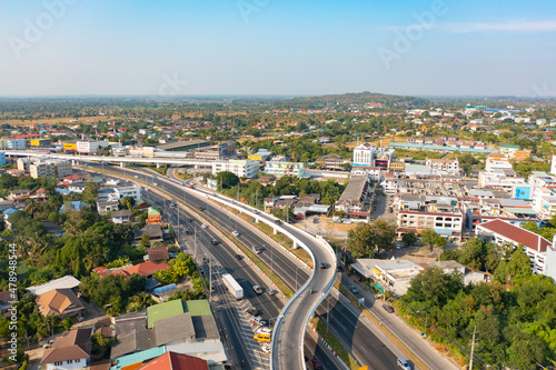
[{"label": "tan-brown roofed house at far left, below the pale grey roof", "polygon": [[51,314],[60,318],[81,316],[83,303],[77,298],[71,289],[53,289],[37,297],[39,312],[43,317]]}]

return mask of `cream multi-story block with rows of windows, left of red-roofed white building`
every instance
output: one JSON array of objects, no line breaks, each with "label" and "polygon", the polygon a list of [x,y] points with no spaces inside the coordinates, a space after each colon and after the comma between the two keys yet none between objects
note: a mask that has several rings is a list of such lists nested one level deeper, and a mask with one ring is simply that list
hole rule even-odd
[{"label": "cream multi-story block with rows of windows, left of red-roofed white building", "polygon": [[453,239],[461,238],[464,210],[457,198],[400,196],[398,210],[398,234],[420,233],[433,229],[439,236]]}]

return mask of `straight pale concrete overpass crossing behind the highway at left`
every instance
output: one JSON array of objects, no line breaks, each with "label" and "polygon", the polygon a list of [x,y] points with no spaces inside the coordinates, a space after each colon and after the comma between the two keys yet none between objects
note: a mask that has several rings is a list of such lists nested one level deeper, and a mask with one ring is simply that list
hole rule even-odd
[{"label": "straight pale concrete overpass crossing behind the highway at left", "polygon": [[171,164],[171,166],[195,166],[195,168],[212,168],[212,161],[205,159],[185,159],[185,158],[143,158],[143,157],[115,157],[115,156],[73,156],[73,154],[58,154],[58,153],[44,153],[41,151],[32,150],[7,150],[4,151],[8,157],[38,157],[44,159],[66,159],[70,160],[73,164],[79,164],[80,162],[117,162],[121,167],[126,163],[150,163],[157,164]]}]

